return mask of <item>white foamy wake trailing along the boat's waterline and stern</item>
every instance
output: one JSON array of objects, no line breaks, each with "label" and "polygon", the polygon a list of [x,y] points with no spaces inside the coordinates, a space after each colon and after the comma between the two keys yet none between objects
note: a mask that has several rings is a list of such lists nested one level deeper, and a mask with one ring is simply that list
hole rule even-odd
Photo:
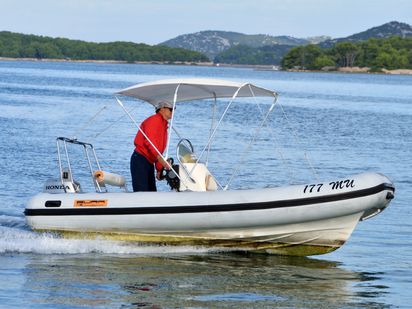
[{"label": "white foamy wake trailing along the boat's waterline and stern", "polygon": [[37,233],[13,227],[0,226],[0,254],[114,254],[114,255],[170,255],[204,254],[213,248],[193,246],[141,245],[103,239],[66,239],[52,233]]}]

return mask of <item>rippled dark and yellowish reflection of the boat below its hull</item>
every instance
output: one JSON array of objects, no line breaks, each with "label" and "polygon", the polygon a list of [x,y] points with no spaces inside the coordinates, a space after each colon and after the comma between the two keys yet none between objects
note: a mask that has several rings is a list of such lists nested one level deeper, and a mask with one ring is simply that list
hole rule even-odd
[{"label": "rippled dark and yellowish reflection of the boat below its hull", "polygon": [[387,307],[379,302],[387,289],[379,285],[383,273],[348,271],[312,258],[32,255],[25,268],[25,299],[40,306]]}]

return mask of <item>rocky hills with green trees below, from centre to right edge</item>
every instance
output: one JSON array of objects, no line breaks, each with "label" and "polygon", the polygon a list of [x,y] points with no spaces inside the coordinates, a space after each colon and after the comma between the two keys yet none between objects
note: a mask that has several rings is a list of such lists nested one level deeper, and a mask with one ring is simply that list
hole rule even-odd
[{"label": "rocky hills with green trees below, from centre to right edge", "polygon": [[411,38],[411,25],[391,21],[341,38],[200,31],[161,44],[197,50],[219,65],[348,72],[402,69],[405,72],[411,71]]}]

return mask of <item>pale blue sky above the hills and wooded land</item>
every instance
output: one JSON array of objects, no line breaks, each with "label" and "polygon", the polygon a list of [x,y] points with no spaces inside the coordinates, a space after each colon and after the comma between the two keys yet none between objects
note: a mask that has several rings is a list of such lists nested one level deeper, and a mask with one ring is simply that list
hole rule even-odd
[{"label": "pale blue sky above the hills and wooded land", "polygon": [[345,37],[412,24],[412,0],[0,0],[0,31],[158,44],[202,30]]}]

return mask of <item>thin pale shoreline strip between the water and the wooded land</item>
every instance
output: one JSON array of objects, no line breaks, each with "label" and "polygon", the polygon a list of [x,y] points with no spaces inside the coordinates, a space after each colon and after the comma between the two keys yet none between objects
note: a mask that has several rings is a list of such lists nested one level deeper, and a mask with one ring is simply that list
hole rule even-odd
[{"label": "thin pale shoreline strip between the water and the wooded land", "polygon": [[[33,62],[79,62],[79,63],[101,63],[101,64],[159,64],[159,65],[187,65],[187,66],[204,66],[204,67],[226,67],[226,68],[250,68],[261,71],[282,71],[273,65],[254,65],[254,64],[225,64],[213,62],[167,62],[167,61],[122,61],[122,60],[73,60],[73,59],[37,59],[37,58],[10,58],[0,57],[0,61],[33,61]],[[337,70],[286,70],[282,72],[306,72],[306,73],[363,73],[363,74],[390,74],[390,75],[412,75],[411,69],[382,69],[381,72],[370,72],[370,68],[360,67],[342,67]]]}]

